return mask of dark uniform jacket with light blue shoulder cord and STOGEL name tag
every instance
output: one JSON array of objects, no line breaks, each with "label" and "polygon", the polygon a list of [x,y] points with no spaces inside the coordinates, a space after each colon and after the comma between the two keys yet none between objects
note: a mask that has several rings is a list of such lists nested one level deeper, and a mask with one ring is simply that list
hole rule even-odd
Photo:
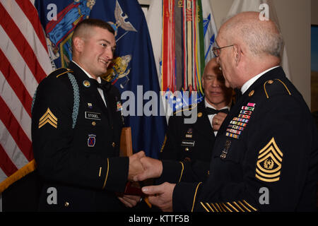
[{"label": "dark uniform jacket with light blue shoulder cord and STOGEL name tag", "polygon": [[[45,180],[40,210],[121,210],[128,157],[119,157],[123,121],[119,91],[76,64],[58,69],[37,88],[32,109],[35,161]],[[56,189],[57,199],[54,200]]]}]

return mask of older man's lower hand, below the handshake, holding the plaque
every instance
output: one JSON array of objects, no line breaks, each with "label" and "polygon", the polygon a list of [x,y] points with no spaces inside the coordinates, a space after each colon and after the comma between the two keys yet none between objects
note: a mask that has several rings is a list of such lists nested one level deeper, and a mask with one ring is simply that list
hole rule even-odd
[{"label": "older man's lower hand, below the handshake, holding the plaque", "polygon": [[172,193],[175,184],[167,182],[158,186],[144,186],[141,190],[144,194],[148,194],[149,202],[158,206],[164,212],[172,212]]}]

